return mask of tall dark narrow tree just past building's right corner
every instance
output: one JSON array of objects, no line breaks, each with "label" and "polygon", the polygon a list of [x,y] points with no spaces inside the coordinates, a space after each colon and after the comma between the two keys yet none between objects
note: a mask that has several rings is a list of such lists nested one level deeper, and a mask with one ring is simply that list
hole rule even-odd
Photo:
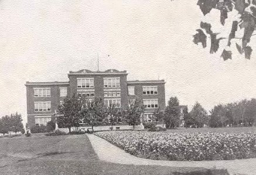
[{"label": "tall dark narrow tree just past building's right corner", "polygon": [[174,128],[179,126],[179,100],[177,97],[170,97],[168,106],[165,108],[163,120],[165,121],[166,128]]}]

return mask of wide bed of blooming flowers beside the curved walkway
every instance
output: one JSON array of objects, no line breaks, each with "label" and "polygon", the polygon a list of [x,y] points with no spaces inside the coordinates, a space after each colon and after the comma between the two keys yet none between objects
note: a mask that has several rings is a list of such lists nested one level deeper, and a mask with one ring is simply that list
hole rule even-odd
[{"label": "wide bed of blooming flowers beside the curved walkway", "polygon": [[220,134],[105,131],[95,135],[138,157],[157,160],[228,160],[256,157],[256,133]]}]

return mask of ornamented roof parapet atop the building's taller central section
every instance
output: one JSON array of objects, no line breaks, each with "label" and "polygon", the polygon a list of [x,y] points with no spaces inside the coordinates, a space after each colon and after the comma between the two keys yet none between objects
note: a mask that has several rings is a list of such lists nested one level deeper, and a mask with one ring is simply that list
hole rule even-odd
[{"label": "ornamented roof parapet atop the building's taller central section", "polygon": [[118,71],[117,69],[107,69],[106,71],[90,71],[88,69],[82,69],[80,71],[69,71],[68,75],[115,75],[123,74],[128,75],[127,71]]}]

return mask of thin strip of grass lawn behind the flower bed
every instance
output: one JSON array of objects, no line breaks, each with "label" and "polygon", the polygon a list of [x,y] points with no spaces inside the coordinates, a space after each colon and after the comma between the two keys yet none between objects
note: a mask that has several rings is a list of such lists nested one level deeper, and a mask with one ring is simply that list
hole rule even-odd
[{"label": "thin strip of grass lawn behind the flower bed", "polygon": [[241,133],[241,132],[256,132],[256,127],[226,127],[226,128],[175,128],[167,129],[163,132],[227,132],[227,133]]}]

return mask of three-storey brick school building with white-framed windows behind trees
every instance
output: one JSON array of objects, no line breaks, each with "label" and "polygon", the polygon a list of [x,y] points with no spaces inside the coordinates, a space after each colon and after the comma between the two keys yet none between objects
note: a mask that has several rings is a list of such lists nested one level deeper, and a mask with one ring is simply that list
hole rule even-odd
[{"label": "three-storey brick school building with white-framed windows behind trees", "polygon": [[46,125],[54,120],[58,106],[66,96],[104,99],[104,104],[128,106],[129,100],[143,101],[144,121],[153,121],[153,112],[165,108],[165,81],[127,81],[127,71],[70,71],[69,82],[26,82],[28,126]]}]

